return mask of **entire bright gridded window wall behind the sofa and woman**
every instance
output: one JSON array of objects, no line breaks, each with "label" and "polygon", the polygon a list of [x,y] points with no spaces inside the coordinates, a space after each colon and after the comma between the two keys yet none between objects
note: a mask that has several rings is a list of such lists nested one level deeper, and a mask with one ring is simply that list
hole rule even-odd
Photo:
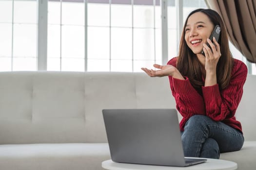
[{"label": "entire bright gridded window wall behind the sofa and woman", "polygon": [[[168,11],[166,31],[161,20],[163,1]],[[38,70],[40,57],[45,61],[43,70],[137,72],[141,67],[152,68],[177,56],[185,18],[196,8],[207,8],[204,0],[39,2],[0,0],[0,71]],[[45,23],[38,14],[46,18]],[[40,24],[45,27],[39,29]],[[252,66],[256,74],[255,64],[230,46],[234,57]]]}]

